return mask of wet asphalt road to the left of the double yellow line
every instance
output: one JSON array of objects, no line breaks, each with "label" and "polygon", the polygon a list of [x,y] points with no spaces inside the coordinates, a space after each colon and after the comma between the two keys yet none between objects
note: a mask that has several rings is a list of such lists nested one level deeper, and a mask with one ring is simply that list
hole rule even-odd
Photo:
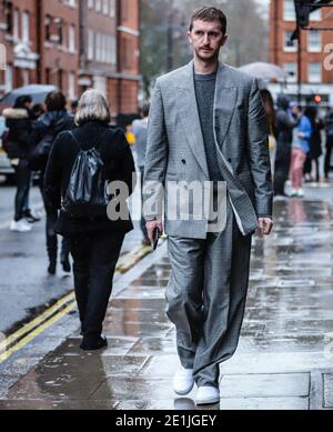
[{"label": "wet asphalt road to the left of the double yellow line", "polygon": [[[14,193],[14,187],[0,185],[0,332],[4,334],[11,334],[73,289],[72,277],[62,271],[60,263],[56,277],[47,272],[44,219],[34,223],[31,232],[9,231]],[[38,188],[31,189],[30,203],[33,210],[42,210]],[[139,223],[135,228],[125,238],[122,257],[141,245]]]}]

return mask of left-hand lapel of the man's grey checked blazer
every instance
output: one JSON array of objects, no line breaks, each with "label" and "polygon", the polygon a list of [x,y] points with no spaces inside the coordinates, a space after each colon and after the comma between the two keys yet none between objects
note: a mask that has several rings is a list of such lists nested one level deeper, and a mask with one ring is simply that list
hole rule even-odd
[{"label": "left-hand lapel of the man's grey checked blazer", "polygon": [[184,68],[183,77],[176,87],[180,90],[180,121],[185,130],[185,137],[199,165],[206,177],[209,177],[206,154],[195,97],[193,61]]}]

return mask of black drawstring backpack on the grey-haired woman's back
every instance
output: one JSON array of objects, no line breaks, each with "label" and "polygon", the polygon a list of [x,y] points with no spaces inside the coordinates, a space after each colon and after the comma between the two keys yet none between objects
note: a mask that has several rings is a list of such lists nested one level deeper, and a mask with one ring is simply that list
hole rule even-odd
[{"label": "black drawstring backpack on the grey-haired woman's back", "polygon": [[82,150],[73,132],[69,133],[80,147],[80,152],[72,168],[62,210],[72,218],[94,219],[107,215],[110,195],[101,153],[97,145],[91,150]]}]

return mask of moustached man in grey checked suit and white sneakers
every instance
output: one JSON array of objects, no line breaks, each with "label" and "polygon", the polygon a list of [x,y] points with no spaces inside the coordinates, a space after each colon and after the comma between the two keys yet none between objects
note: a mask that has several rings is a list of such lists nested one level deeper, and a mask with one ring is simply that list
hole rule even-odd
[{"label": "moustached man in grey checked suit and white sneakers", "polygon": [[[224,13],[200,8],[188,36],[194,60],[158,79],[152,98],[144,215],[151,241],[157,228],[169,235],[167,313],[176,328],[181,361],[174,391],[188,394],[195,382],[196,403],[209,404],[220,400],[219,363],[238,346],[252,234],[271,233],[273,189],[256,80],[219,62],[228,39]],[[211,212],[198,217],[206,184],[220,223]],[[191,195],[188,213],[179,209],[184,199],[171,197],[175,190]],[[170,217],[174,210],[176,218]]]}]

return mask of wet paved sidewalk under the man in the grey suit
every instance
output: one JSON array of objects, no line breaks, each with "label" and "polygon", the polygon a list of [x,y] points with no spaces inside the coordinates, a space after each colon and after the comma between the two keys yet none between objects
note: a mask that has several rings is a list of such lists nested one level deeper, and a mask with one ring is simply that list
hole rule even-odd
[{"label": "wet paved sidewalk under the man in the grey suit", "polygon": [[[204,409],[333,409],[333,188],[306,192],[278,200],[274,233],[255,238],[240,346]],[[80,351],[73,313],[0,364],[0,409],[194,410],[195,392],[175,399],[171,385],[169,275],[164,243],[118,278],[104,351]]]}]

